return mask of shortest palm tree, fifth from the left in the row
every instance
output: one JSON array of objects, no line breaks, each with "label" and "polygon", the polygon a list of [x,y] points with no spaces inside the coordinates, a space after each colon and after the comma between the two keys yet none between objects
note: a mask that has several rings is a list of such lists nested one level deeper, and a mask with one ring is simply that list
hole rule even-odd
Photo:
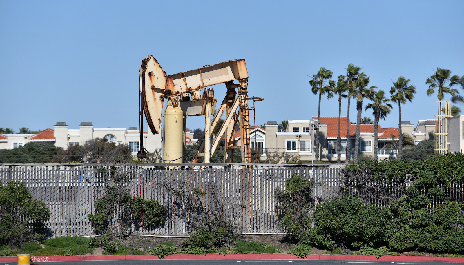
[{"label": "shortest palm tree, fifth from the left in the row", "polygon": [[378,92],[374,91],[374,94],[370,98],[373,103],[369,103],[366,105],[367,109],[372,109],[372,114],[374,115],[374,160],[377,160],[377,149],[379,148],[378,144],[378,127],[379,127],[379,119],[385,120],[385,117],[390,114],[391,109],[393,109],[392,104],[388,103],[391,102],[391,99],[385,97],[385,91],[379,90]]}]

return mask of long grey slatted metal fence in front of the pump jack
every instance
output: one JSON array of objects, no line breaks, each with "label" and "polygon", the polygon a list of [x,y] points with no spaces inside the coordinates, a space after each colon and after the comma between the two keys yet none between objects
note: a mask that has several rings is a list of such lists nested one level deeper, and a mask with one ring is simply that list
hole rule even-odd
[{"label": "long grey slatted metal fence in front of the pump jack", "polygon": [[[101,165],[101,164],[99,164]],[[172,164],[171,164],[172,165]],[[224,200],[241,206],[239,222],[245,233],[282,233],[277,226],[274,190],[284,188],[292,174],[298,174],[319,185],[313,195],[328,200],[336,195],[342,165],[317,164],[176,164],[178,169],[166,169],[166,164],[127,164],[136,172],[129,183],[135,197],[158,200],[168,208],[168,218],[159,227],[139,227],[137,233],[154,235],[188,235],[175,196],[170,196],[162,183],[184,179],[207,191],[215,183]],[[46,223],[50,237],[86,236],[93,233],[89,213],[94,213],[94,201],[104,194],[104,183],[95,175],[96,163],[16,164],[0,165],[0,181],[24,181],[34,199],[45,202],[52,215]],[[205,201],[206,207],[208,200]],[[115,224],[116,225],[116,224]]]}]

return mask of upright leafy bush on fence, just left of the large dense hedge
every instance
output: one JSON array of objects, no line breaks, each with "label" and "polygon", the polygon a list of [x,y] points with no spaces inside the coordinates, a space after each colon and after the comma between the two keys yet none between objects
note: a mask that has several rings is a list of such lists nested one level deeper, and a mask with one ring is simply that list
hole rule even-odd
[{"label": "upright leafy bush on fence, just left of the large dense hedge", "polygon": [[279,226],[296,241],[312,224],[310,210],[314,205],[311,197],[313,187],[314,182],[292,174],[285,182],[285,189],[277,188],[274,193],[278,203],[277,213],[283,216]]}]

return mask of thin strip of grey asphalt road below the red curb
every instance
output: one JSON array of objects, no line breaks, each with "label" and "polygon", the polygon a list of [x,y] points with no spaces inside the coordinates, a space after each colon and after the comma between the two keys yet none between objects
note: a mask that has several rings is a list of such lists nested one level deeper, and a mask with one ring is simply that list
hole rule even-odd
[{"label": "thin strip of grey asphalt road below the red curb", "polygon": [[[419,265],[462,265],[461,263],[440,262],[385,262],[385,261],[341,261],[341,260],[237,260],[237,259],[168,259],[168,260],[95,260],[95,261],[51,261],[38,262],[39,265],[374,265],[374,264],[419,264]],[[14,262],[0,262],[0,265],[16,265]],[[296,265],[296,264],[294,264]]]}]

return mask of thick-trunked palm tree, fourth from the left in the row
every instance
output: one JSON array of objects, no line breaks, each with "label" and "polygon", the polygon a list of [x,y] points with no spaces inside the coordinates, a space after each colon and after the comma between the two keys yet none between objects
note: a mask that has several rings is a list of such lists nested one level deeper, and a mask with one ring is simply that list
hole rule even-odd
[{"label": "thick-trunked palm tree, fourth from the left in the row", "polygon": [[374,92],[376,86],[367,87],[370,82],[370,78],[365,73],[360,73],[358,80],[356,81],[356,90],[354,96],[356,97],[356,110],[358,110],[358,116],[356,121],[356,134],[354,136],[354,162],[358,162],[359,155],[359,140],[361,130],[361,114],[362,114],[362,100],[369,98]]}]

